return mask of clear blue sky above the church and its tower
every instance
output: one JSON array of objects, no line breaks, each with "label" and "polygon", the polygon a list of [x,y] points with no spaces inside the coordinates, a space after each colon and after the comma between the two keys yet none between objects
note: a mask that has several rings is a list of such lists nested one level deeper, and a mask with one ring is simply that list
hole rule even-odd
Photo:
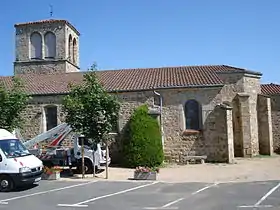
[{"label": "clear blue sky above the church and its tower", "polygon": [[1,4],[0,75],[13,74],[14,24],[67,19],[80,32],[80,67],[227,64],[280,83],[279,0],[10,0]]}]

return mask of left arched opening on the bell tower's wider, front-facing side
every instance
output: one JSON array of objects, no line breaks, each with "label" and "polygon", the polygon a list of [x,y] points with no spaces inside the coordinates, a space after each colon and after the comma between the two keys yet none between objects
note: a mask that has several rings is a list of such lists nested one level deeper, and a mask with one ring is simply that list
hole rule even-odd
[{"label": "left arched opening on the bell tower's wider, front-facing side", "polygon": [[42,59],[42,36],[38,32],[34,32],[30,36],[30,58]]}]

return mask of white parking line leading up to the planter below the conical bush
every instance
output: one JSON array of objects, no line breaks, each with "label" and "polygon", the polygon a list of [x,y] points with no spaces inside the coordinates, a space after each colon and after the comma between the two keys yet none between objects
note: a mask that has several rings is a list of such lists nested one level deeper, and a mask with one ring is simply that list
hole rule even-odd
[{"label": "white parking line leading up to the planter below the conical bush", "polygon": [[76,203],[76,204],[58,204],[57,206],[60,206],[60,207],[88,207],[88,205],[85,205],[85,203],[89,203],[89,202],[92,202],[92,201],[100,200],[102,198],[111,197],[111,196],[114,196],[114,195],[123,194],[123,193],[126,193],[126,192],[130,192],[130,191],[133,191],[133,190],[137,190],[137,189],[143,188],[143,187],[148,187],[148,186],[151,186],[151,185],[154,185],[154,184],[157,184],[157,183],[159,183],[159,182],[152,182],[152,183],[149,183],[149,184],[140,185],[140,186],[129,188],[129,189],[126,189],[126,190],[122,190],[122,191],[119,191],[119,192],[115,192],[115,193],[111,193],[111,194],[95,197],[95,198],[92,198],[92,199],[89,199],[89,200],[85,200],[85,201],[82,201],[82,202],[79,202],[79,203]]}]

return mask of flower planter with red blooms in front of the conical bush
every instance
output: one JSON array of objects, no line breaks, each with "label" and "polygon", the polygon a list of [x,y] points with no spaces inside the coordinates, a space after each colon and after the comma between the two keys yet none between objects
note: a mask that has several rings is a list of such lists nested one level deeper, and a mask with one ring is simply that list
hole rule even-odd
[{"label": "flower planter with red blooms in front of the conical bush", "polygon": [[156,180],[159,168],[136,167],[134,171],[134,179],[136,180]]}]

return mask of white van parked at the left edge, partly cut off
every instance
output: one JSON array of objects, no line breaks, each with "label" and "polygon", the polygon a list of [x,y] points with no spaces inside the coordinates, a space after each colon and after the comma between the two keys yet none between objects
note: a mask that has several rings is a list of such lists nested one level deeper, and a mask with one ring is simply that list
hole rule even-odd
[{"label": "white van parked at the left edge, partly cut off", "polygon": [[0,192],[38,183],[43,163],[12,133],[0,129]]}]

